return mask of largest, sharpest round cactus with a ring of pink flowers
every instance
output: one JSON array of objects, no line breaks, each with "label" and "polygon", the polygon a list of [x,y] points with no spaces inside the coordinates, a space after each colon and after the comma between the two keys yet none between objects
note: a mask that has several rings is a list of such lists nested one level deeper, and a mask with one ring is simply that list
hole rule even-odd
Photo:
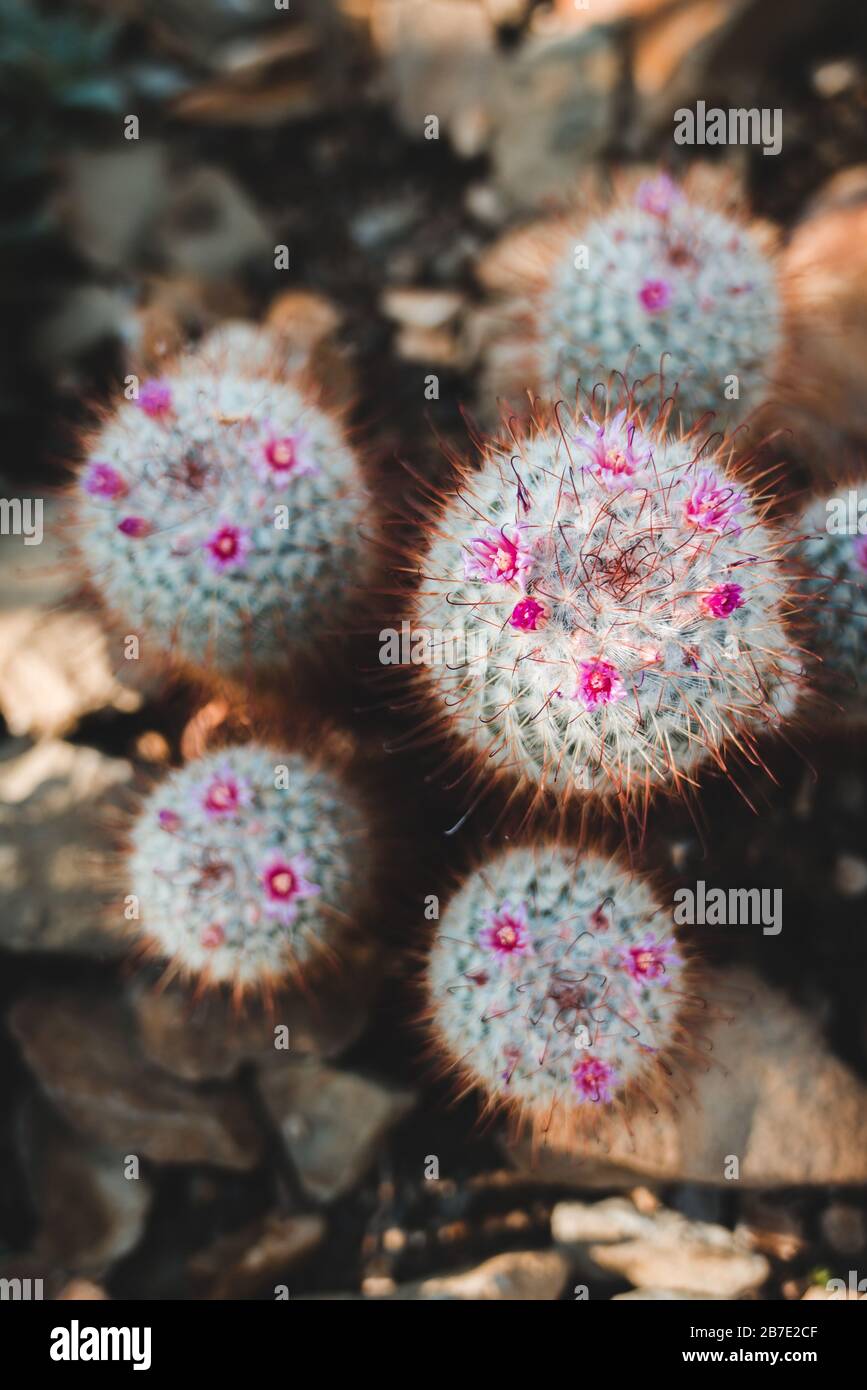
[{"label": "largest, sharpest round cactus with a ring of pink flowers", "polygon": [[782,539],[717,449],[625,410],[484,450],[431,527],[413,626],[442,728],[557,796],[684,790],[791,712]]}]

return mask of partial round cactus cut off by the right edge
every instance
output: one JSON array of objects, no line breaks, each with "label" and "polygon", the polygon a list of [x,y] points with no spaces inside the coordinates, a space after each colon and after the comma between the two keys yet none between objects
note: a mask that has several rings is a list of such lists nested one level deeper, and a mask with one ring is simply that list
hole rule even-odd
[{"label": "partial round cactus cut off by the right edge", "polygon": [[795,530],[810,645],[821,663],[817,684],[839,713],[860,721],[867,714],[867,484],[810,502]]}]

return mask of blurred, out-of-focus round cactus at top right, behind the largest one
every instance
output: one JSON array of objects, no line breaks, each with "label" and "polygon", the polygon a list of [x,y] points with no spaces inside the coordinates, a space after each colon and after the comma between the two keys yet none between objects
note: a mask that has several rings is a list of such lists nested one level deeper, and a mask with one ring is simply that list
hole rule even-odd
[{"label": "blurred, out-of-focus round cactus at top right, behind the largest one", "polygon": [[515,404],[531,388],[572,403],[579,381],[621,373],[643,403],[677,386],[688,424],[713,411],[722,428],[766,398],[782,342],[771,238],[706,171],[625,178],[613,197],[517,236],[484,275],[515,313],[525,300],[490,357],[509,378],[521,341],[532,350],[524,381],[489,370],[495,395]]}]

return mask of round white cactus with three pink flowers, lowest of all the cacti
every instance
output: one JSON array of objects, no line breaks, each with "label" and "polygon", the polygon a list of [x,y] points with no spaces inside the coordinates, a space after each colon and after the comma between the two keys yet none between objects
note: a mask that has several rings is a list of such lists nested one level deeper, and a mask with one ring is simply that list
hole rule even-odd
[{"label": "round white cactus with three pink flowers, lowest of all the cacti", "polygon": [[691,999],[671,915],[617,860],[509,849],[447,903],[428,973],[442,1051],[549,1127],[664,1081]]}]

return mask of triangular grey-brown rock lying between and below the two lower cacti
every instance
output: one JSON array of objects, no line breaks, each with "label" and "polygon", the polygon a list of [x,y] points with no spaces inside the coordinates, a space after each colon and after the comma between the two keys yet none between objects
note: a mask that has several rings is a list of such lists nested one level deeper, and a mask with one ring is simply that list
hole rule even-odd
[{"label": "triangular grey-brown rock lying between and below the two lower cacti", "polygon": [[329,1202],[358,1183],[414,1097],[315,1062],[285,1062],[260,1079],[271,1119],[304,1190]]}]

